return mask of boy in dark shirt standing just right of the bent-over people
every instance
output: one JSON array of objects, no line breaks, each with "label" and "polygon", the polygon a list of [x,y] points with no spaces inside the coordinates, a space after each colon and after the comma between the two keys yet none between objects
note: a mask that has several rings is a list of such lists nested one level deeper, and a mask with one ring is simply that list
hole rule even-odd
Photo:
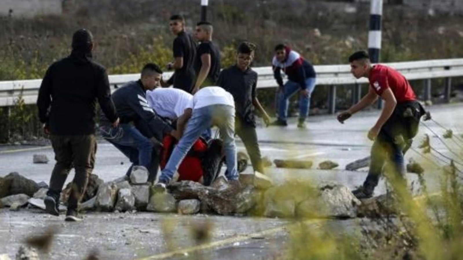
[{"label": "boy in dark shirt standing just right of the bent-over people", "polygon": [[259,143],[257,142],[256,107],[263,116],[265,124],[270,118],[257,99],[257,73],[250,68],[256,45],[243,42],[238,46],[237,63],[224,69],[217,80],[217,86],[223,87],[235,99],[235,133],[241,138],[251,159],[255,171],[264,173]]}]

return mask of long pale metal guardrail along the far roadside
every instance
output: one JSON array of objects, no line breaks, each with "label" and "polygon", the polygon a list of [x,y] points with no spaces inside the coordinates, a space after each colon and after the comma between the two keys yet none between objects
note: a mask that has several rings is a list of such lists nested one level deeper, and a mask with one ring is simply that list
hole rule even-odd
[{"label": "long pale metal guardrail along the far roadside", "polygon": [[[399,70],[408,80],[424,80],[424,99],[431,99],[431,79],[446,78],[445,95],[450,99],[451,78],[463,76],[463,59],[426,60],[416,62],[394,62],[384,63]],[[259,75],[258,88],[276,87],[271,67],[253,68]],[[342,85],[353,85],[353,102],[361,98],[360,84],[368,83],[365,78],[355,79],[350,74],[349,65],[318,65],[317,85],[329,86],[329,112],[336,110],[336,88]],[[164,73],[164,77],[170,77],[171,73]],[[114,91],[120,85],[138,80],[140,74],[110,75],[109,82]],[[12,106],[22,91],[25,104],[35,104],[37,101],[38,89],[42,80],[11,80],[0,81],[0,107]]]}]

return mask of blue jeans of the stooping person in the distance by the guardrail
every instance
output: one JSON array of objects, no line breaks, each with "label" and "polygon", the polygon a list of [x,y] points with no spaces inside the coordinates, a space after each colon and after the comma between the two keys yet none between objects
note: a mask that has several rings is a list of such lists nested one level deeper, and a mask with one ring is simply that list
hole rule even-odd
[{"label": "blue jeans of the stooping person in the distance by the guardrail", "polygon": [[[300,96],[299,98],[299,119],[301,120],[306,119],[309,114],[310,97],[312,95],[313,89],[315,89],[315,78],[307,78],[306,85],[307,90],[309,91],[308,97]],[[283,91],[276,94],[279,120],[286,121],[288,118],[288,100],[300,90],[301,88],[299,83],[288,80],[283,87]]]}]

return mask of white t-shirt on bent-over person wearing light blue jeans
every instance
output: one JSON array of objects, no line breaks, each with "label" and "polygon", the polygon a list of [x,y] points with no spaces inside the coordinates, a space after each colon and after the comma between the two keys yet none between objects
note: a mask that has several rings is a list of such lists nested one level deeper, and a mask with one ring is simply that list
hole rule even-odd
[{"label": "white t-shirt on bent-over person wearing light blue jeans", "polygon": [[235,107],[232,94],[221,87],[203,87],[193,96],[190,107],[198,109],[208,105],[230,105]]}]

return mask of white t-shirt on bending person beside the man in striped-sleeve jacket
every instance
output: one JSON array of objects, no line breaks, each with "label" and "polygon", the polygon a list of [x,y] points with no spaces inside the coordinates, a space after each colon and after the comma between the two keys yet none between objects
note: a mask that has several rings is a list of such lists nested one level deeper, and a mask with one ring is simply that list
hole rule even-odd
[{"label": "white t-shirt on bending person beside the man in striped-sleeve jacket", "polygon": [[193,95],[178,88],[156,88],[146,91],[146,99],[156,114],[175,120],[185,109],[193,108]]}]

